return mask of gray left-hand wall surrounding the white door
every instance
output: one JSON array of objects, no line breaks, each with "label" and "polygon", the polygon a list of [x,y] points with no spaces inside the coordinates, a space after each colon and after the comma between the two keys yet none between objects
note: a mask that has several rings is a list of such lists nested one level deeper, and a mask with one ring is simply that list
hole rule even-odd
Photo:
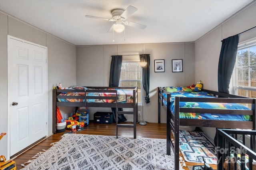
[{"label": "gray left-hand wall surrounding the white door", "polygon": [[[48,135],[52,134],[52,89],[76,84],[76,47],[0,12],[0,132],[7,132],[7,35],[48,47]],[[65,69],[66,68],[66,69]],[[70,112],[70,108],[62,108]],[[71,109],[74,110],[74,109]],[[0,140],[0,153],[7,155],[8,134]]]}]

